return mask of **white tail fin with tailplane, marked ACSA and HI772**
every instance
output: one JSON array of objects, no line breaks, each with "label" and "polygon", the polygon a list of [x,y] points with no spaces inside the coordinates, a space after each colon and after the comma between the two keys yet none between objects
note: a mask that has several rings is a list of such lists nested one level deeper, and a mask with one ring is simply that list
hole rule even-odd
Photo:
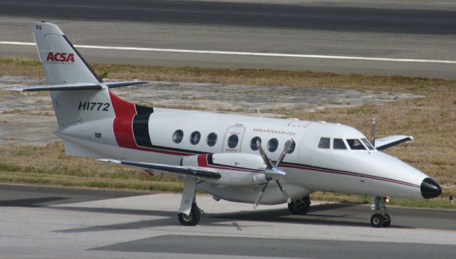
[{"label": "white tail fin with tailplane, marked ACSA and HI772", "polygon": [[11,90],[50,91],[59,129],[97,120],[113,120],[115,112],[108,88],[147,83],[104,83],[58,26],[36,22],[31,24],[31,28],[46,85]]}]

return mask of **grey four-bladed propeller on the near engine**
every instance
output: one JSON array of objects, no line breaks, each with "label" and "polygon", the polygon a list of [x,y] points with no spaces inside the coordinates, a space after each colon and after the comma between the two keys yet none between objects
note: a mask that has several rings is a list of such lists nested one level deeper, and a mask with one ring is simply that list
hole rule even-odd
[{"label": "grey four-bladed propeller on the near engine", "polygon": [[284,194],[284,197],[286,201],[289,203],[291,201],[291,198],[289,194],[286,192],[286,190],[282,187],[280,184],[279,179],[285,176],[285,172],[279,168],[280,163],[284,160],[286,152],[289,151],[291,145],[294,143],[293,139],[289,139],[287,142],[284,144],[284,150],[282,150],[279,159],[277,159],[276,164],[272,164],[271,160],[268,159],[266,156],[266,152],[264,152],[263,147],[261,147],[261,142],[258,140],[257,141],[257,147],[259,150],[259,153],[261,154],[261,157],[264,160],[264,164],[266,164],[266,170],[264,171],[264,175],[266,176],[266,184],[264,184],[263,189],[259,192],[257,199],[255,199],[254,203],[254,208],[258,207],[259,202],[261,201],[261,197],[263,197],[264,190],[266,190],[266,187],[269,184],[269,181],[275,180],[277,185],[279,186],[280,191],[282,194]]}]

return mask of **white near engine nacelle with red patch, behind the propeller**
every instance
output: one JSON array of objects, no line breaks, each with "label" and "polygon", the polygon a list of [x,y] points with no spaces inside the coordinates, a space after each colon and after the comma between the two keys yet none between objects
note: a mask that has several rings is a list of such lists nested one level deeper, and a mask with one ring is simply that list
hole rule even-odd
[{"label": "white near engine nacelle with red patch, behind the propeller", "polygon": [[258,154],[219,153],[183,157],[182,166],[198,166],[216,170],[222,177],[207,180],[217,184],[254,185],[266,182],[266,164]]}]

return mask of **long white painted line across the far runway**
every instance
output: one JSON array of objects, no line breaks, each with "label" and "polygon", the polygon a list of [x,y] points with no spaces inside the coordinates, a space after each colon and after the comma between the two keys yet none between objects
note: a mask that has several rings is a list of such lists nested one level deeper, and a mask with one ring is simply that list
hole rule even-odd
[{"label": "long white painted line across the far runway", "polygon": [[[20,42],[20,41],[0,41],[0,44],[36,46],[35,43]],[[186,50],[186,49],[177,49],[177,48],[138,48],[138,47],[93,46],[93,45],[75,45],[75,47],[76,48],[105,49],[105,50],[119,50],[119,51],[155,51],[155,52],[199,53],[199,54],[219,54],[219,55],[239,55],[239,56],[264,56],[264,57],[281,57],[281,58],[326,58],[326,59],[345,59],[345,60],[371,60],[371,61],[392,61],[392,62],[456,64],[456,60],[435,60],[435,59],[415,59],[415,58],[370,58],[370,57],[328,56],[328,55],[310,55],[310,54],[259,53],[259,52],[240,52],[240,51],[197,51],[197,50]]]}]

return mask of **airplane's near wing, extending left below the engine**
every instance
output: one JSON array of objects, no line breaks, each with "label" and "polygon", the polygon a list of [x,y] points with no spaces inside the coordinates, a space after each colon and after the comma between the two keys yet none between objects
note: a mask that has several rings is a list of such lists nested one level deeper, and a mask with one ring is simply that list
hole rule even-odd
[{"label": "airplane's near wing, extending left below the engine", "polygon": [[195,178],[204,179],[219,179],[221,177],[221,175],[217,173],[217,171],[197,166],[172,166],[170,164],[130,162],[115,159],[97,159],[97,161],[115,164],[125,164],[128,166],[140,167],[142,169],[155,169],[176,176],[193,176]]}]

